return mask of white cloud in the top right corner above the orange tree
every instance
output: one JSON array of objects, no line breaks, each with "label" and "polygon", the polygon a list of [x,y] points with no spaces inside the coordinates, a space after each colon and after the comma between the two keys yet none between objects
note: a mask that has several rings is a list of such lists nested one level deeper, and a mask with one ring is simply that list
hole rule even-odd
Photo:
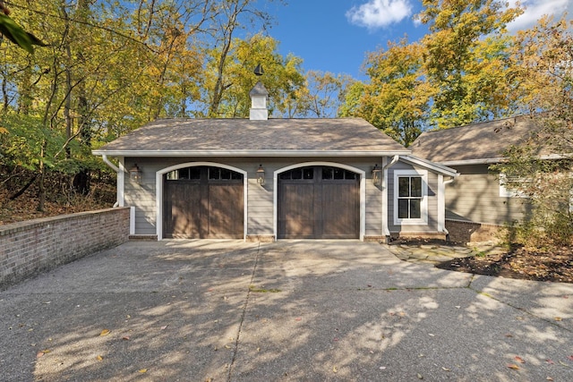
[{"label": "white cloud in the top right corner above the orange tree", "polygon": [[[510,7],[516,3],[517,0],[509,0]],[[508,24],[508,30],[511,32],[531,28],[544,14],[551,14],[556,20],[565,12],[568,13],[569,20],[573,17],[573,2],[570,0],[521,0],[520,3],[525,12]]]}]

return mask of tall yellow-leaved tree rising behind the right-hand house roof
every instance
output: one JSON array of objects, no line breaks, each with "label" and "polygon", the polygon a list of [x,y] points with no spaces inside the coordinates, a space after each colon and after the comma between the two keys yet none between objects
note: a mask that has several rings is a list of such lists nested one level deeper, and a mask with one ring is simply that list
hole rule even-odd
[{"label": "tall yellow-leaved tree rising behind the right-hand house roof", "polygon": [[506,96],[513,87],[506,52],[511,39],[506,25],[520,8],[499,0],[423,0],[418,15],[430,33],[423,71],[432,86],[430,124],[448,128],[475,123],[513,111]]}]

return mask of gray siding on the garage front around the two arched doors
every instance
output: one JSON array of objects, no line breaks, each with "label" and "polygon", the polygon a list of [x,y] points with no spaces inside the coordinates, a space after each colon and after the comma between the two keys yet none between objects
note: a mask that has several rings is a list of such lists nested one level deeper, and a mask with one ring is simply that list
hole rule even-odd
[{"label": "gray siding on the garage front around the two arched doors", "polygon": [[[247,235],[271,235],[274,233],[274,182],[273,174],[279,168],[307,162],[330,162],[354,166],[365,172],[366,177],[366,236],[382,234],[382,197],[381,189],[372,184],[372,166],[381,163],[381,158],[337,158],[337,157],[300,157],[300,158],[231,158],[231,157],[173,157],[125,158],[126,169],[137,163],[141,168],[141,183],[133,184],[129,174],[125,174],[124,205],[135,207],[135,234],[155,234],[156,230],[156,173],[168,166],[192,162],[212,162],[234,166],[247,172]],[[265,185],[256,181],[256,170],[262,165],[265,170]],[[333,165],[334,166],[334,165]]]}]

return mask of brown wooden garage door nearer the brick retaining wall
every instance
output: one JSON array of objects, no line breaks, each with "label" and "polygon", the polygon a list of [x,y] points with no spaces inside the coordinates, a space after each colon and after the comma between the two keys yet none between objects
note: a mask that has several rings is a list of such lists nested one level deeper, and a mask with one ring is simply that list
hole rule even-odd
[{"label": "brown wooden garage door nearer the brick retaining wall", "polygon": [[165,175],[164,236],[242,239],[243,174],[196,166]]}]

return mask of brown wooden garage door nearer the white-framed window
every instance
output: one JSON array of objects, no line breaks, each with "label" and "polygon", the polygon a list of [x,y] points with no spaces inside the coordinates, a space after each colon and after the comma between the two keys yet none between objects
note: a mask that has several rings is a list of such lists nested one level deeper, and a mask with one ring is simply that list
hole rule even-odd
[{"label": "brown wooden garage door nearer the white-framed window", "polygon": [[301,167],[279,175],[279,239],[357,239],[360,175],[337,167]]}]

